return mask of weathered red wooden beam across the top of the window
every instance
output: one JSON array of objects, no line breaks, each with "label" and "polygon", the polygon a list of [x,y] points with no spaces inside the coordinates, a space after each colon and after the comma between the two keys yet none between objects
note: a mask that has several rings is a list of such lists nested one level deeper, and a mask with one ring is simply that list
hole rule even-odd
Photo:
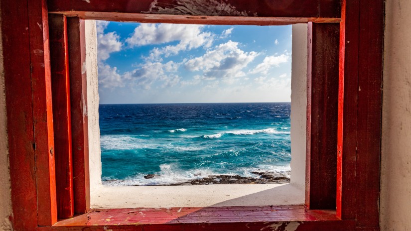
[{"label": "weathered red wooden beam across the top of the window", "polygon": [[[85,19],[189,24],[338,22],[338,0],[49,0],[49,10]],[[220,17],[220,18],[219,18]],[[221,18],[224,17],[224,18]]]}]

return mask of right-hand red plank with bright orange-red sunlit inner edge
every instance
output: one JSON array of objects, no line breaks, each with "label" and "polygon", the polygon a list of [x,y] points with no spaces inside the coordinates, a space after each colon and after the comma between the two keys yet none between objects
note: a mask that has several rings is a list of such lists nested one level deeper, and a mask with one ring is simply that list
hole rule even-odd
[{"label": "right-hand red plank with bright orange-red sunlit inner edge", "polygon": [[[337,134],[337,216],[356,217],[359,1],[342,0]],[[358,182],[360,183],[360,182]]]}]

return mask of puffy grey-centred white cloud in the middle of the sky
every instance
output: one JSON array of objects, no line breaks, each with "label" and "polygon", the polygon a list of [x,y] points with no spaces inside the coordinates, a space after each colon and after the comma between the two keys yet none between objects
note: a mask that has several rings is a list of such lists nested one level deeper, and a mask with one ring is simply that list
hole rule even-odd
[{"label": "puffy grey-centred white cloud in the middle of the sky", "polygon": [[207,51],[203,56],[185,62],[189,71],[203,71],[203,79],[231,79],[244,76],[242,71],[255,57],[257,52],[244,52],[239,43],[228,41]]}]

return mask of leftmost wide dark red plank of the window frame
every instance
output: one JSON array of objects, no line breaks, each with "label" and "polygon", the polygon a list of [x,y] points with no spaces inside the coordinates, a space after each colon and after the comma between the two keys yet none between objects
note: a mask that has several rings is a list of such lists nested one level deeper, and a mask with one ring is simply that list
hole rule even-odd
[{"label": "leftmost wide dark red plank of the window frame", "polygon": [[27,1],[1,0],[0,8],[2,55],[6,57],[2,68],[13,210],[10,220],[14,230],[34,230],[37,192]]}]

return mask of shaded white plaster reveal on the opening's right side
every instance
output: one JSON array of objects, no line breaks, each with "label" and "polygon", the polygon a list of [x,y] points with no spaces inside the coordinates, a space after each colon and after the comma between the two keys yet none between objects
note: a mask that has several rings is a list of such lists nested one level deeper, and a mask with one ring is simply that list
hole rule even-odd
[{"label": "shaded white plaster reveal on the opening's right side", "polygon": [[307,24],[292,25],[291,184],[305,189]]}]

